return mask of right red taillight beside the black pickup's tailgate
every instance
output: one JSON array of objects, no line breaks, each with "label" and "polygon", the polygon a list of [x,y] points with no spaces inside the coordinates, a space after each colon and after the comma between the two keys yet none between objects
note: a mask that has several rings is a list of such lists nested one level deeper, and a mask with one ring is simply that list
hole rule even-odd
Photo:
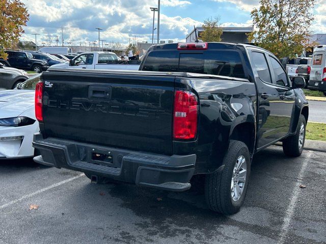
[{"label": "right red taillight beside the black pickup's tailgate", "polygon": [[176,90],[174,96],[173,138],[194,139],[197,134],[197,97],[186,90]]}]

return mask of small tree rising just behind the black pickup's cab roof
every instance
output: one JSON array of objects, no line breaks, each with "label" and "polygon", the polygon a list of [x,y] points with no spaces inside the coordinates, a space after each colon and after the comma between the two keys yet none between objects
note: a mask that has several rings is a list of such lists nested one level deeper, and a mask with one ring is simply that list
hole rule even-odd
[{"label": "small tree rising just behind the black pickup's cab roof", "polygon": [[219,17],[210,17],[204,21],[204,31],[200,34],[203,42],[221,42],[223,29],[220,27]]}]

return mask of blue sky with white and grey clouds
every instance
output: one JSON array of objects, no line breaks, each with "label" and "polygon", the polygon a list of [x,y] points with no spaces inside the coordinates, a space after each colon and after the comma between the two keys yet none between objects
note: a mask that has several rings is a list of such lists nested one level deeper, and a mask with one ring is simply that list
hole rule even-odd
[{"label": "blue sky with white and grey clouds", "polygon": [[[22,0],[30,13],[21,40],[38,45],[48,36],[66,30],[66,42],[85,45],[98,40],[96,27],[103,29],[100,39],[127,44],[129,38],[151,42],[153,12],[157,0]],[[259,7],[258,0],[161,0],[160,40],[185,41],[195,26],[209,17],[220,17],[223,26],[251,26],[250,12]],[[326,0],[317,0],[314,8],[315,33],[326,33]],[[157,16],[157,13],[156,13]],[[157,27],[155,18],[155,27]],[[156,37],[156,31],[155,31]],[[155,38],[154,37],[154,38]],[[104,43],[105,43],[104,42]],[[54,43],[52,43],[54,45]]]}]

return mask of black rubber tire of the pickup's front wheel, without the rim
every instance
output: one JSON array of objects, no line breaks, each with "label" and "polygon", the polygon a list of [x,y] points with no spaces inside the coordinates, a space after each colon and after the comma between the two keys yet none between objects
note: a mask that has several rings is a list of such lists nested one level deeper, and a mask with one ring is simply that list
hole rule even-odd
[{"label": "black rubber tire of the pickup's front wheel, without the rim", "polygon": [[[300,147],[299,137],[301,134],[300,131],[302,129],[302,125],[304,126],[304,134],[303,134],[302,145]],[[302,154],[302,151],[304,149],[305,139],[306,139],[306,119],[305,119],[304,115],[300,114],[295,135],[290,136],[290,137],[286,138],[285,140],[283,140],[284,154],[286,156],[290,156],[290,157],[299,157]]]}]

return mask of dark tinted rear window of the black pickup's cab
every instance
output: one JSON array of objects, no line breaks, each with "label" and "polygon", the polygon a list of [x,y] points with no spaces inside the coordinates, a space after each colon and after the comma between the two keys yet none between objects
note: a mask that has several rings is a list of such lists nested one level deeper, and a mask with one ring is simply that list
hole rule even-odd
[{"label": "dark tinted rear window of the black pickup's cab", "polygon": [[237,51],[216,50],[204,53],[179,53],[178,51],[150,52],[144,71],[191,72],[246,78],[240,54]]}]

